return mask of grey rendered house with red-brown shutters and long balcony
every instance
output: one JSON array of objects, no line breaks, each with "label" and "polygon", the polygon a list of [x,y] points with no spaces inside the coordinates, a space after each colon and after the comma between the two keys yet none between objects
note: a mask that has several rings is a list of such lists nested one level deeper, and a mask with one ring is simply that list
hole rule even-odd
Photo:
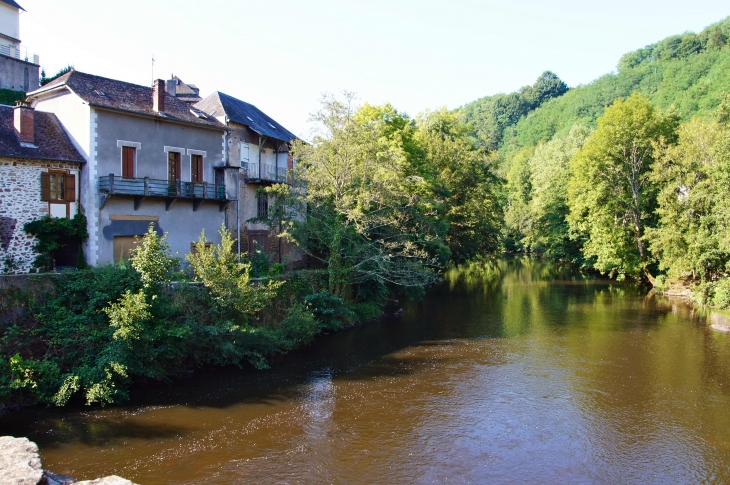
[{"label": "grey rendered house with red-brown shutters and long balcony", "polygon": [[163,80],[146,87],[76,70],[27,101],[57,117],[86,162],[78,186],[89,264],[128,257],[150,224],[180,257],[203,230],[219,241],[239,167],[226,165],[228,129],[215,117],[172,96]]}]

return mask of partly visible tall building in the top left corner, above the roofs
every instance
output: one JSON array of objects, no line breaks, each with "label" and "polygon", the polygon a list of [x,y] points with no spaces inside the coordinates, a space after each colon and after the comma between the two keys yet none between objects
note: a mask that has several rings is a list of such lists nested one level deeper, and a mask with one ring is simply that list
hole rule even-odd
[{"label": "partly visible tall building in the top left corner, above the roofs", "polygon": [[0,89],[28,92],[38,89],[38,56],[20,44],[20,11],[13,0],[0,0]]}]

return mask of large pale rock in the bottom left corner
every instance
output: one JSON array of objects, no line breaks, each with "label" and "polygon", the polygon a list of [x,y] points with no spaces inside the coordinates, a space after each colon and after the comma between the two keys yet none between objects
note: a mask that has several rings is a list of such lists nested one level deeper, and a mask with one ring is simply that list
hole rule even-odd
[{"label": "large pale rock in the bottom left corner", "polygon": [[36,485],[41,478],[38,446],[28,438],[0,437],[0,485]]}]

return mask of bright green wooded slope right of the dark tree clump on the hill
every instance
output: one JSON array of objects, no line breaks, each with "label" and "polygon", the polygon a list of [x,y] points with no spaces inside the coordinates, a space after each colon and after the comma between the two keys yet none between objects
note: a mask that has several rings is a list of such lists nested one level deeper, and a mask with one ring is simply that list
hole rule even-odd
[{"label": "bright green wooded slope right of the dark tree clump on the hill", "polygon": [[[565,136],[574,125],[595,127],[614,101],[639,92],[683,119],[712,115],[730,92],[730,17],[699,34],[686,33],[626,54],[618,72],[571,88],[523,116],[504,133],[503,153]],[[689,47],[689,46],[693,47]],[[483,129],[475,120],[476,131]]]}]

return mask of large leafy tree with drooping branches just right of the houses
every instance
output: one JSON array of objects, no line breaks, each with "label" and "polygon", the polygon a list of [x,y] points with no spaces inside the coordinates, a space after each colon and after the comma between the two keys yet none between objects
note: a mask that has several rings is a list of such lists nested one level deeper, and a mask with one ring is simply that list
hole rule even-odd
[{"label": "large leafy tree with drooping branches just right of the houses", "polygon": [[292,149],[298,183],[271,189],[288,206],[286,235],[326,265],[330,293],[343,298],[349,285],[371,280],[427,285],[445,250],[429,184],[393,129],[404,116],[368,111],[356,110],[352,94],[325,96],[312,142]]}]

